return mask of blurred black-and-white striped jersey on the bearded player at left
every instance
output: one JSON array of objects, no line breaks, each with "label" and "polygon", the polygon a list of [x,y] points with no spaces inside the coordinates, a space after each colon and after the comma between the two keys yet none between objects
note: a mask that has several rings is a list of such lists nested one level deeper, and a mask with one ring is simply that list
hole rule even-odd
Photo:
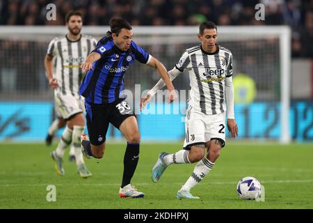
[{"label": "blurred black-and-white striped jersey on the bearded player at left", "polygon": [[80,66],[96,45],[95,38],[85,35],[81,35],[77,41],[72,41],[67,36],[51,40],[47,54],[56,57],[54,77],[58,79],[59,87],[55,91],[79,97],[79,86],[83,78]]}]

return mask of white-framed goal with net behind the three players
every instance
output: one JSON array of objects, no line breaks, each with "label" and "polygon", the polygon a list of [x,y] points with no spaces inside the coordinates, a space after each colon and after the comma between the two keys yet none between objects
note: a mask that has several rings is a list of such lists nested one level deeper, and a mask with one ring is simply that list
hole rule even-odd
[{"label": "white-framed goal with net behind the three players", "polygon": [[[108,26],[84,26],[82,33],[99,40],[107,30]],[[168,70],[175,66],[185,49],[200,44],[198,26],[134,26],[133,31],[133,40]],[[67,29],[60,26],[0,27],[0,103],[4,108],[0,114],[3,133],[0,140],[15,139],[16,131],[19,131],[19,139],[41,140],[45,136],[53,118],[53,92],[45,77],[44,59],[49,41],[65,33]],[[289,28],[219,26],[217,43],[232,51],[234,80],[245,78],[235,83],[239,137],[288,143]],[[183,139],[184,112],[190,89],[187,72],[173,82],[179,93],[179,100],[174,105],[167,105],[164,96],[158,94],[146,112],[138,112],[141,93],[151,89],[159,78],[156,70],[138,62],[125,75],[125,89],[132,93],[133,97],[128,100],[137,111],[141,134],[143,139],[155,141]],[[45,112],[38,111],[40,106]],[[160,106],[162,109],[158,108]],[[8,120],[10,122],[6,123]],[[38,124],[42,130],[36,132]],[[31,131],[33,137],[26,137]],[[113,128],[110,131],[111,137],[121,137]]]}]

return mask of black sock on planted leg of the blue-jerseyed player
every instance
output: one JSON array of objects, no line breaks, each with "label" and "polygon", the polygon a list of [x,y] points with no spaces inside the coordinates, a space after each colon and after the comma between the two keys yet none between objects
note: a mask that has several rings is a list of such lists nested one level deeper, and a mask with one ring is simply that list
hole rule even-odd
[{"label": "black sock on planted leg of the blue-jerseyed player", "polygon": [[127,142],[127,147],[124,155],[124,172],[121,187],[125,187],[134,176],[138,160],[139,160],[139,143]]}]

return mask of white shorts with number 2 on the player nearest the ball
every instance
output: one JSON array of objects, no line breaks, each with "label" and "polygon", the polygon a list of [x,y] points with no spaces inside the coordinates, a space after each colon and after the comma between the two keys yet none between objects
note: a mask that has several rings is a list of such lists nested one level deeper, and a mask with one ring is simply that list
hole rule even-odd
[{"label": "white shorts with number 2 on the player nearest the ball", "polygon": [[189,105],[186,113],[184,148],[205,144],[211,139],[220,139],[225,146],[225,115],[203,114]]}]

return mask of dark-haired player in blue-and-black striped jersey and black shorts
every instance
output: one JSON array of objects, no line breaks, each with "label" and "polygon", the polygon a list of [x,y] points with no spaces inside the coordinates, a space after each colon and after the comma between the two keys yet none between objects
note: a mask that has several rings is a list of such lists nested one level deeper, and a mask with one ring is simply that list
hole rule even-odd
[{"label": "dark-haired player in blue-and-black striped jersey and black shorts", "polygon": [[86,157],[102,158],[109,123],[118,128],[127,139],[120,197],[144,197],[130,184],[138,163],[141,135],[136,116],[122,95],[124,75],[137,60],[157,69],[170,91],[170,102],[175,99],[174,86],[163,64],[131,40],[133,31],[126,20],[115,18],[109,24],[111,31],[99,40],[81,66],[88,70],[79,93],[85,97],[90,138],[83,134],[81,147]]}]

